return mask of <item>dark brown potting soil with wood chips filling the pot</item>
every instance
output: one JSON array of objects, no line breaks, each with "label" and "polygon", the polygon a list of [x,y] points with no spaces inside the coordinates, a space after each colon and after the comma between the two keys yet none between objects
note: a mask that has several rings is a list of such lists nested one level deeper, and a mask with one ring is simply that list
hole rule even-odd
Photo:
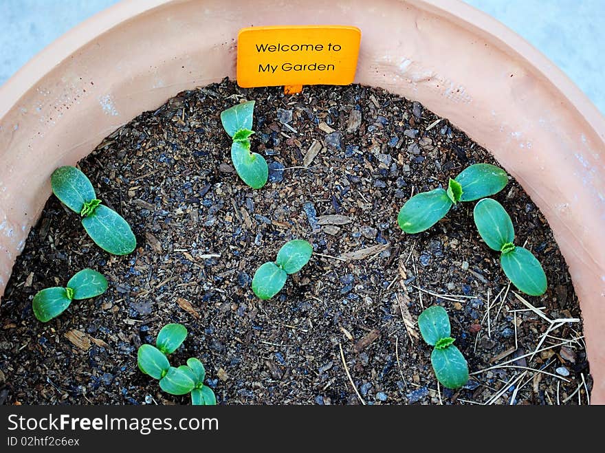
[{"label": "dark brown potting soil with wood chips filling the pot", "polygon": [[[256,100],[252,149],[270,164],[261,190],[234,173],[221,127],[221,111],[241,100]],[[476,162],[497,164],[448,120],[381,89],[284,96],[225,80],[179,93],[79,164],[131,224],[133,254],[103,252],[76,214],[48,200],[0,307],[0,400],[188,404],[137,368],[137,347],[180,322],[189,336],[170,362],[199,357],[219,404],[585,404],[580,320],[548,331],[540,316],[580,318],[571,278],[514,179],[494,198],[549,279],[544,296],[524,297],[529,305],[478,237],[474,203],[421,234],[397,226],[412,192]],[[262,302],[254,271],[290,239],[316,254]],[[34,294],[85,267],[107,276],[109,290],[37,321]],[[476,373],[461,390],[437,386],[419,338],[415,321],[434,304]]]}]

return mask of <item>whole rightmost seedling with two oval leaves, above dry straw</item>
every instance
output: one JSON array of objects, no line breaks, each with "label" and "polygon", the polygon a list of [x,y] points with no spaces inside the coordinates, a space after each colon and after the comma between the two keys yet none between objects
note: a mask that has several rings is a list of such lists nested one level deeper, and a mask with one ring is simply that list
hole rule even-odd
[{"label": "whole rightmost seedling with two oval leaves, above dry straw", "polygon": [[476,204],[473,217],[481,239],[500,252],[500,265],[513,285],[529,296],[542,296],[547,289],[544,269],[529,250],[514,245],[513,223],[502,205],[483,199]]}]

